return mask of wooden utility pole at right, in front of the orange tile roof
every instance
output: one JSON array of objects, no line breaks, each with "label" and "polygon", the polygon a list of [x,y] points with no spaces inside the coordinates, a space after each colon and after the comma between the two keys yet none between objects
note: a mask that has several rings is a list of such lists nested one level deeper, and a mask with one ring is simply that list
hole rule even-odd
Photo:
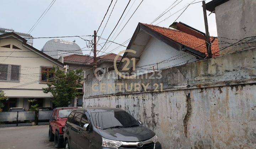
[{"label": "wooden utility pole at right, in front of the orange tile roof", "polygon": [[204,26],[206,28],[206,48],[207,48],[208,58],[212,58],[212,50],[210,45],[210,34],[208,29],[208,20],[207,20],[207,14],[206,14],[205,1],[203,1],[203,13],[204,13]]}]

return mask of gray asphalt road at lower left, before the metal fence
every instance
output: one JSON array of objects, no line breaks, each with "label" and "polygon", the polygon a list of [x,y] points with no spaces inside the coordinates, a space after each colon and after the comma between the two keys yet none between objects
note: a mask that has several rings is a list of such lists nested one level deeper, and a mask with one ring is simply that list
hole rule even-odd
[{"label": "gray asphalt road at lower left, before the metal fence", "polygon": [[0,128],[0,149],[56,149],[48,125]]}]

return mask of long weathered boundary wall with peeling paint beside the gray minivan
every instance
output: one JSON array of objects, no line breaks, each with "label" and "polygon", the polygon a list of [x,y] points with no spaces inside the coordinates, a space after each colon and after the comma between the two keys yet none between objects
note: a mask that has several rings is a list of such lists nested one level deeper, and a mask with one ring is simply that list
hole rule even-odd
[{"label": "long weathered boundary wall with peeling paint beside the gray minivan", "polygon": [[[161,79],[103,78],[93,83],[150,83],[146,92],[85,90],[84,107],[118,107],[153,129],[169,148],[254,148],[256,50],[162,71]],[[105,75],[113,75],[107,73]],[[163,83],[153,92],[153,83]]]}]

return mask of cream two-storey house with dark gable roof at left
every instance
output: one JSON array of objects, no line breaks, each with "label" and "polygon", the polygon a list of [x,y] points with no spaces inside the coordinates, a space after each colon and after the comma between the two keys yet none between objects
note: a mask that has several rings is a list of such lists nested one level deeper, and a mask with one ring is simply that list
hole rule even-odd
[{"label": "cream two-storey house with dark gable roof at left", "polygon": [[50,69],[63,68],[62,62],[27,44],[14,32],[0,35],[0,53],[0,90],[9,97],[4,111],[10,107],[29,109],[29,99],[36,99],[39,107],[54,106],[51,94],[43,93],[42,88],[47,87]]}]

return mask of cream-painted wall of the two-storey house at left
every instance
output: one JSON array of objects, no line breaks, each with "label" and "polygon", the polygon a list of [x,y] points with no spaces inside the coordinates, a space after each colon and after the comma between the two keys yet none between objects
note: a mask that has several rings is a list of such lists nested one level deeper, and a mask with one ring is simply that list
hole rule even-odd
[{"label": "cream-painted wall of the two-storey house at left", "polygon": [[[17,87],[15,89],[6,90],[5,95],[9,97],[31,97],[31,98],[44,98],[50,97],[51,94],[45,94],[42,91],[42,88],[47,87],[46,83],[40,83],[41,77],[41,66],[53,67],[57,66],[53,62],[47,60],[44,57],[39,57],[38,54],[22,46],[22,43],[16,39],[1,39],[0,46],[4,45],[17,46],[20,49],[11,49],[11,48],[2,48],[0,47],[1,56],[10,56],[0,57],[1,64],[13,64],[21,65],[20,66],[20,82],[0,82],[0,89],[5,90],[6,88],[15,87],[18,85],[24,85]],[[20,51],[20,52],[19,52]],[[12,53],[13,52],[13,53]],[[10,71],[10,70],[8,70]],[[33,83],[35,81],[35,83]],[[31,83],[32,82],[32,83]]]}]

